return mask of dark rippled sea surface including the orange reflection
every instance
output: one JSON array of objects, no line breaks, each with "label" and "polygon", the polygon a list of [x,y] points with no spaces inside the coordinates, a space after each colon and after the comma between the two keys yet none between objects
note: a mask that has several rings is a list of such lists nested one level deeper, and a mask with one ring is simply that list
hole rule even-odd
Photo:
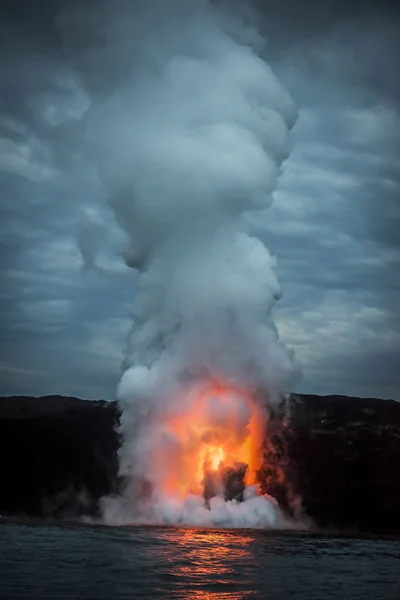
[{"label": "dark rippled sea surface including the orange reflection", "polygon": [[0,521],[6,600],[400,600],[400,542]]}]

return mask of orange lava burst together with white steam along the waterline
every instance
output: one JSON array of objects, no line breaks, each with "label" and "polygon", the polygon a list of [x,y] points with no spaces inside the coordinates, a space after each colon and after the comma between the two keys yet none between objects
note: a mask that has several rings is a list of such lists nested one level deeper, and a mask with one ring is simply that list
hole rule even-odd
[{"label": "orange lava burst together with white steam along the waterline", "polygon": [[291,527],[257,483],[268,420],[259,399],[213,381],[175,400],[148,415],[133,448],[144,469],[130,474],[123,499],[105,499],[106,520]]}]

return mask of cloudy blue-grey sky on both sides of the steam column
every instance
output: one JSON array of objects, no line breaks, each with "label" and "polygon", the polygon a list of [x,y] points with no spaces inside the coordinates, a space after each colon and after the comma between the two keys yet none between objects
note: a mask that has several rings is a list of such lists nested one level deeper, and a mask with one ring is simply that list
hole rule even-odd
[{"label": "cloudy blue-grey sky on both sides of the steam column", "polygon": [[[0,16],[0,394],[112,399],[135,275],[77,147],[89,100],[57,29],[63,4],[15,0]],[[274,204],[253,218],[278,260],[295,391],[400,400],[396,3],[257,4],[264,55],[299,109]],[[82,268],[97,246],[98,268]]]}]

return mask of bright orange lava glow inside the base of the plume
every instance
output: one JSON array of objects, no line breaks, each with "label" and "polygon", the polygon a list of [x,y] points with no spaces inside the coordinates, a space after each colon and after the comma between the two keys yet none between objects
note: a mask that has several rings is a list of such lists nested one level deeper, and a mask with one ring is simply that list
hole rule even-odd
[{"label": "bright orange lava glow inside the base of the plume", "polygon": [[174,416],[163,419],[174,450],[168,460],[155,457],[164,464],[164,491],[180,497],[203,494],[206,474],[222,482],[224,469],[238,464],[247,465],[246,485],[255,483],[266,416],[251,395],[207,383],[189,390],[178,406]]}]

